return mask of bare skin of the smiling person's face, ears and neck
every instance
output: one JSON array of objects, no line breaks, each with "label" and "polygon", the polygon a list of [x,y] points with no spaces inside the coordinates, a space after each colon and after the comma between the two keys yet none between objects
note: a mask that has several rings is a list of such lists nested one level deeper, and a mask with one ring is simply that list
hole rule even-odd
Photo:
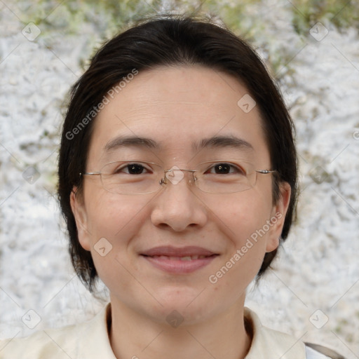
[{"label": "bare skin of the smiling person's face, ears and neck", "polygon": [[[246,93],[237,79],[199,65],[140,72],[97,116],[86,170],[98,171],[126,156],[162,162],[167,169],[194,168],[236,151],[193,149],[194,142],[214,135],[250,142],[253,149],[241,154],[256,169],[271,169],[259,110],[246,114],[237,105]],[[160,146],[106,154],[105,144],[118,135],[147,137]],[[285,183],[273,204],[271,186],[271,175],[258,175],[254,188],[235,194],[207,194],[183,180],[155,194],[121,195],[104,190],[99,176],[85,178],[83,196],[71,195],[72,210],[79,241],[109,287],[109,338],[117,358],[158,358],[158,353],[163,358],[245,357],[251,342],[243,321],[245,290],[265,253],[278,246],[290,199]],[[283,216],[276,224],[217,283],[210,283],[208,277],[278,212]],[[104,257],[94,249],[103,237],[112,245]],[[193,273],[172,274],[140,256],[158,245],[197,245],[219,255]],[[166,320],[173,310],[184,318],[176,328]]]}]

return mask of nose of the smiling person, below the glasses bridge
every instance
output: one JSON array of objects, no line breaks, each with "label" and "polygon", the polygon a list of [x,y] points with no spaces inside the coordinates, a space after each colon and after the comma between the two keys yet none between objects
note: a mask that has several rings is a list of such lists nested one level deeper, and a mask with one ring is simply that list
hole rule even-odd
[{"label": "nose of the smiling person, below the glasses bridge", "polygon": [[193,172],[171,168],[161,183],[163,189],[156,196],[151,212],[151,222],[173,231],[204,226],[208,214],[203,201],[198,198],[193,181]]}]

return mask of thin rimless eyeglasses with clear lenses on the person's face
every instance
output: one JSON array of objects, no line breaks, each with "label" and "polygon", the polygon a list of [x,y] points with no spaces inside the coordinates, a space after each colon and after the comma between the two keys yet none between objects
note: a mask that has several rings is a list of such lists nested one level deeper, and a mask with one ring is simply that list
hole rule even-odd
[{"label": "thin rimless eyeglasses with clear lenses on the person's face", "polygon": [[268,175],[276,170],[254,170],[248,162],[208,161],[187,170],[173,166],[164,170],[161,165],[144,161],[116,161],[104,165],[100,172],[80,173],[80,176],[101,177],[102,186],[114,194],[151,194],[171,182],[178,184],[191,172],[190,185],[203,192],[231,194],[255,187],[257,175]]}]

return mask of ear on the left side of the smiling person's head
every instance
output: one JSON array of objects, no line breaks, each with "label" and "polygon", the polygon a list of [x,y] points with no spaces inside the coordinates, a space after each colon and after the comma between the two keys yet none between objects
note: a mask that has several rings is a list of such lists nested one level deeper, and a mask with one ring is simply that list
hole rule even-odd
[{"label": "ear on the left side of the smiling person's head", "polygon": [[84,250],[90,250],[90,231],[88,230],[88,216],[86,213],[83,196],[76,193],[77,187],[72,188],[70,205],[74,214],[79,242]]}]

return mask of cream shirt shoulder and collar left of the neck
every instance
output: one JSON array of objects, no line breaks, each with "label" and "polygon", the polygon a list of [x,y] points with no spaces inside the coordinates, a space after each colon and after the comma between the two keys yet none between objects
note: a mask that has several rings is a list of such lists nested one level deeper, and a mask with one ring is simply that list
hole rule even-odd
[{"label": "cream shirt shoulder and collar left of the neck", "polygon": [[0,340],[1,359],[115,359],[107,334],[107,308],[92,320],[29,337]]}]

